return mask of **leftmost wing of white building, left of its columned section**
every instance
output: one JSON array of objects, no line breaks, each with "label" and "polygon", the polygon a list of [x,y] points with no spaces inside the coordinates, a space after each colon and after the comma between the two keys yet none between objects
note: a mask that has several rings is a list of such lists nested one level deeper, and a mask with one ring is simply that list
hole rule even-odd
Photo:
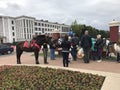
[{"label": "leftmost wing of white building, left of its columned section", "polygon": [[16,39],[15,19],[0,16],[0,42],[13,42]]}]

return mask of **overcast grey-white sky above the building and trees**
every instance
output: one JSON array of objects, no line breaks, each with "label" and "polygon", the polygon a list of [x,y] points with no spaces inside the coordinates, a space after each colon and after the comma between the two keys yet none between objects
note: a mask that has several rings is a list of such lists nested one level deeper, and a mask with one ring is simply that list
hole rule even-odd
[{"label": "overcast grey-white sky above the building and trees", "polygon": [[0,15],[28,15],[70,25],[80,24],[109,30],[108,23],[120,21],[119,0],[0,0]]}]

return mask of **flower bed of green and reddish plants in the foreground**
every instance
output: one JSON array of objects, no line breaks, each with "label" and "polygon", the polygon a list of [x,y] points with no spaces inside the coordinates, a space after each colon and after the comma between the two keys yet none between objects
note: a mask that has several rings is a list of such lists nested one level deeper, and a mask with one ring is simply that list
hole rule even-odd
[{"label": "flower bed of green and reddish plants in the foreground", "polygon": [[38,66],[0,66],[0,90],[100,90],[105,77]]}]

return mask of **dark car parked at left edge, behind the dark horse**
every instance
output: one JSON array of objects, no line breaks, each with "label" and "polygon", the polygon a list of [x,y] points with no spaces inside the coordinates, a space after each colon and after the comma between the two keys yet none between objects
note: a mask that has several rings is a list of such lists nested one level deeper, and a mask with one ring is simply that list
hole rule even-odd
[{"label": "dark car parked at left edge, behind the dark horse", "polygon": [[0,54],[10,54],[14,51],[11,46],[8,45],[0,45]]}]

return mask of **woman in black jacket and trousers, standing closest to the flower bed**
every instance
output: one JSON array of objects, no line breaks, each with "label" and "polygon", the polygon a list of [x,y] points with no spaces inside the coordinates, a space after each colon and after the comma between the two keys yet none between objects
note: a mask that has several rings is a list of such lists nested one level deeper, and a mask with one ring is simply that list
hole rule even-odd
[{"label": "woman in black jacket and trousers, standing closest to the flower bed", "polygon": [[69,49],[71,47],[70,42],[68,41],[68,35],[65,35],[64,40],[61,43],[61,47],[62,47],[62,56],[63,56],[63,66],[68,67]]}]

